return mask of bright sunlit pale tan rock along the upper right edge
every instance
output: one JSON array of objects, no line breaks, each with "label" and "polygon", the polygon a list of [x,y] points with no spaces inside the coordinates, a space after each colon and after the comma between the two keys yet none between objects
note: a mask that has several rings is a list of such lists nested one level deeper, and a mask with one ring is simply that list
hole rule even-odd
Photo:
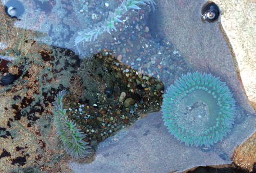
[{"label": "bright sunlit pale tan rock along the upper right edge", "polygon": [[221,24],[234,53],[234,64],[246,95],[256,110],[256,1],[215,0]]}]

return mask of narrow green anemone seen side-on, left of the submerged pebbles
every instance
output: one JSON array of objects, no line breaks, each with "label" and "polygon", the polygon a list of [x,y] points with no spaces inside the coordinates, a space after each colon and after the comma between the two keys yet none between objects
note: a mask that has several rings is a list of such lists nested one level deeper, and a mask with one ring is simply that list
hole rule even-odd
[{"label": "narrow green anemone seen side-on, left of the submerged pebbles", "polygon": [[83,139],[86,137],[73,121],[69,121],[66,110],[63,108],[63,98],[66,91],[58,92],[54,105],[54,124],[57,134],[60,136],[64,149],[74,158],[85,158],[90,156],[91,148]]}]

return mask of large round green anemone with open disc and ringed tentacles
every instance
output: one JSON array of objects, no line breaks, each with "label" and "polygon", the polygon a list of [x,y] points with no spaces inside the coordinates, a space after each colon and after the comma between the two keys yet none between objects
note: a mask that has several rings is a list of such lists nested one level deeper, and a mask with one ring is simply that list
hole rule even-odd
[{"label": "large round green anemone with open disc and ringed tentacles", "polygon": [[230,132],[235,100],[219,77],[188,73],[167,88],[161,111],[165,125],[179,141],[210,146]]}]

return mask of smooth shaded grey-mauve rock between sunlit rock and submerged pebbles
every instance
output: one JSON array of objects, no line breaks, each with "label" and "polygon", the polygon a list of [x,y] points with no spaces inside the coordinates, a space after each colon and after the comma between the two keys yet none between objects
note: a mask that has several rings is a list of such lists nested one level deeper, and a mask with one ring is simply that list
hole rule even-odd
[{"label": "smooth shaded grey-mauve rock between sunlit rock and submerged pebbles", "polygon": [[[228,0],[225,1],[228,3]],[[153,17],[157,23],[154,24],[154,32],[161,33],[162,37],[171,40],[188,63],[194,66],[195,70],[219,76],[233,91],[236,101],[245,110],[254,113],[254,109],[248,104],[243,92],[243,84],[239,81],[230,47],[222,34],[223,29],[220,19],[215,23],[203,23],[201,21],[200,12],[205,2],[205,0],[198,0],[193,3],[190,0],[159,0],[157,3],[157,9],[159,9],[157,13],[159,14],[155,15],[155,18]],[[234,4],[231,4],[230,8],[236,7]],[[241,10],[240,8],[237,4],[233,11]],[[225,9],[225,6],[221,9]],[[236,19],[236,17],[234,18]],[[232,29],[235,29],[233,25]],[[248,32],[250,34],[250,31]],[[241,33],[242,35],[243,33]],[[236,37],[236,35],[232,37]],[[240,39],[239,37],[236,39]],[[253,48],[253,45],[251,45],[251,48]],[[251,64],[251,67],[253,68],[253,64]],[[253,79],[255,77],[250,80]],[[248,88],[253,89],[255,87],[250,84]]]}]

